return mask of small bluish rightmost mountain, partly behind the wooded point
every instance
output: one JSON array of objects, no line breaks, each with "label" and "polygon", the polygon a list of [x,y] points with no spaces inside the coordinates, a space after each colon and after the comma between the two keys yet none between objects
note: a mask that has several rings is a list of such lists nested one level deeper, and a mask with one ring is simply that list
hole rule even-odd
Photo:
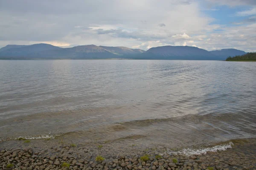
[{"label": "small bluish rightmost mountain, partly behind the wooded point", "polygon": [[244,51],[236,50],[233,48],[215,50],[215,51],[210,51],[210,52],[218,57],[221,57],[221,59],[223,59],[223,60],[227,59],[227,57],[234,57],[234,56],[246,54],[246,52],[244,52]]}]

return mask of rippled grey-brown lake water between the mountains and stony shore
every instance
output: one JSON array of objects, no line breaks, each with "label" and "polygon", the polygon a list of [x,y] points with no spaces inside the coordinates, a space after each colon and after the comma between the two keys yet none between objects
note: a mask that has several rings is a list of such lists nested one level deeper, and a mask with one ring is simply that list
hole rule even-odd
[{"label": "rippled grey-brown lake water between the mountains and stony shore", "polygon": [[0,140],[167,147],[256,137],[256,62],[0,60]]}]

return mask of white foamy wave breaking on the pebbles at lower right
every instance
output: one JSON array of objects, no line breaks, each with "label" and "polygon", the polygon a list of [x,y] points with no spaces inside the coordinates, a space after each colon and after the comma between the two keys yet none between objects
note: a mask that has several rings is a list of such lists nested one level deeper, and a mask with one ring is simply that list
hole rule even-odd
[{"label": "white foamy wave breaking on the pebbles at lower right", "polygon": [[186,155],[186,156],[192,156],[192,155],[202,155],[206,154],[207,152],[217,152],[220,150],[227,150],[228,148],[232,148],[233,142],[229,142],[228,144],[220,144],[214,147],[207,147],[203,149],[183,149],[181,151],[177,152],[166,152],[169,155]]}]

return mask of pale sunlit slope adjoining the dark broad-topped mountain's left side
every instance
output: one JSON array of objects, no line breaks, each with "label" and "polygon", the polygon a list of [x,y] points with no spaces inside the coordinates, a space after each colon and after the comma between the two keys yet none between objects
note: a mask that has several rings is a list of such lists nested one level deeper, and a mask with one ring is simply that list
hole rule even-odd
[{"label": "pale sunlit slope adjoining the dark broad-topped mountain's left side", "polygon": [[107,46],[99,46],[101,48],[104,48],[105,50],[116,54],[116,55],[128,55],[128,54],[141,54],[145,52],[144,50],[141,49],[131,49],[127,47],[107,47]]}]

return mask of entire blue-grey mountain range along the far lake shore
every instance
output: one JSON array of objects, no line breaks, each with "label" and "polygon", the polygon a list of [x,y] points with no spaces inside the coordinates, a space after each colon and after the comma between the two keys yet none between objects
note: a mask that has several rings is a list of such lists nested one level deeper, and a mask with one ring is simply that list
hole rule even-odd
[{"label": "entire blue-grey mountain range along the far lake shore", "polygon": [[147,51],[127,47],[80,45],[60,48],[50,44],[6,45],[0,48],[0,59],[197,59],[225,60],[246,54],[236,49],[207,51],[190,46],[160,46]]}]

